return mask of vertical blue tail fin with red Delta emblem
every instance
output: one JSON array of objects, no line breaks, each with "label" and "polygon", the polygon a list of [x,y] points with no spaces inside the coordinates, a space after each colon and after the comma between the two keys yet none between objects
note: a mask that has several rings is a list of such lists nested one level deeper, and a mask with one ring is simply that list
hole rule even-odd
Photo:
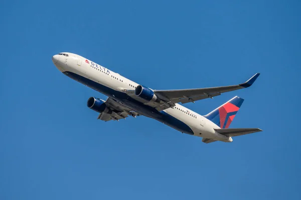
[{"label": "vertical blue tail fin with red Delta emblem", "polygon": [[235,96],[228,102],[204,115],[204,117],[208,118],[221,128],[228,128],[243,101],[243,98]]}]

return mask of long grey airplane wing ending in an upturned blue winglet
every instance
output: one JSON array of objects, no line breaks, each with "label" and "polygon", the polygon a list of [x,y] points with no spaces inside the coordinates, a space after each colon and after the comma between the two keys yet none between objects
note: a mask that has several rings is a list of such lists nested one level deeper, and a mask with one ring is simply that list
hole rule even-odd
[{"label": "long grey airplane wing ending in an upturned blue winglet", "polygon": [[[206,87],[206,88],[196,88],[196,89],[174,89],[174,90],[155,90],[155,94],[158,96],[164,96],[165,99],[169,99],[167,101],[168,104],[173,106],[174,103],[187,103],[194,102],[196,100],[201,100],[205,98],[212,98],[214,96],[221,95],[223,92],[233,91],[237,89],[242,89],[251,86],[260,73],[256,73],[250,79],[245,81],[244,83],[237,85],[229,85],[229,86],[220,86],[220,87]],[[157,109],[166,109],[166,104],[162,104],[157,107]]]}]

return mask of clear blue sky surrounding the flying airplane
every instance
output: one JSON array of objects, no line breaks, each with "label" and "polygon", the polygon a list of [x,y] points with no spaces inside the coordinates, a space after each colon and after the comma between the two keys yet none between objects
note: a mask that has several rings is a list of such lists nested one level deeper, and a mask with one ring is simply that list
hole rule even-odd
[{"label": "clear blue sky surrounding the flying airplane", "polygon": [[[0,7],[0,199],[300,199],[301,2],[4,1]],[[247,89],[185,104],[206,114],[244,98],[205,144],[146,117],[96,120],[98,93],[62,74],[69,51],[155,89]]]}]

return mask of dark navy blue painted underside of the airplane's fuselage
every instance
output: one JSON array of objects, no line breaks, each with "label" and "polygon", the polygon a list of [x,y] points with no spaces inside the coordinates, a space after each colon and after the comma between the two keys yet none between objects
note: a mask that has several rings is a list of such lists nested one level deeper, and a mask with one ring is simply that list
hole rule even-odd
[{"label": "dark navy blue painted underside of the airplane's fuselage", "polygon": [[78,75],[76,73],[70,71],[64,71],[63,73],[69,76],[70,78],[123,103],[124,105],[130,107],[133,110],[140,112],[145,116],[157,119],[158,121],[167,124],[181,132],[187,134],[194,134],[192,129],[186,123],[166,113],[165,111],[159,112],[157,109],[150,107],[148,105],[144,105],[142,102],[131,98],[126,93],[114,90],[110,87],[97,83],[89,78]]}]

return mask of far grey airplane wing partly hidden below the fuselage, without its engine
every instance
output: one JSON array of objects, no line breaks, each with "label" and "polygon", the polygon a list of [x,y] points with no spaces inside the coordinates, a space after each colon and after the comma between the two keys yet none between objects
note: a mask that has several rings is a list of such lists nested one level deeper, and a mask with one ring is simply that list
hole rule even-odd
[{"label": "far grey airplane wing partly hidden below the fuselage, without its engine", "polygon": [[105,101],[106,106],[112,110],[112,112],[101,112],[97,119],[103,120],[103,121],[109,121],[109,120],[117,120],[119,119],[125,119],[128,116],[139,116],[140,114],[136,111],[131,110],[130,108],[120,104],[116,100],[114,100],[111,97],[108,97]]}]

